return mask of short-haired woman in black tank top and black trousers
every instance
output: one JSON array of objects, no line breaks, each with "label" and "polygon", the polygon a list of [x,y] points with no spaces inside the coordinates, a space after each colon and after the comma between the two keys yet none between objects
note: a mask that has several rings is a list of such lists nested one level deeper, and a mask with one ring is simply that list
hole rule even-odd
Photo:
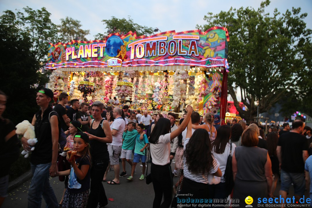
[{"label": "short-haired woman in black tank top and black trousers", "polygon": [[90,139],[90,150],[92,158],[91,185],[88,199],[88,208],[95,208],[98,203],[100,207],[108,204],[105,190],[102,184],[106,168],[109,162],[109,154],[106,143],[112,143],[113,137],[109,123],[102,118],[103,104],[95,101],[92,107],[93,120],[90,121],[88,136]]}]

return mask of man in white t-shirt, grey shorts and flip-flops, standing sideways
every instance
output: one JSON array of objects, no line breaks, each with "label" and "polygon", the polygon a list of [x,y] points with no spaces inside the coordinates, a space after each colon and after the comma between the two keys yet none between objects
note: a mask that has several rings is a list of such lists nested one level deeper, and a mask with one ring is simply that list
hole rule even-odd
[{"label": "man in white t-shirt, grey shorts and flip-flops, standing sideways", "polygon": [[113,135],[113,142],[108,145],[108,152],[110,154],[110,164],[114,165],[115,178],[108,181],[108,184],[120,184],[119,182],[119,154],[122,146],[122,135],[126,126],[125,120],[121,117],[122,109],[114,108],[113,116],[114,122],[110,125],[110,130]]}]

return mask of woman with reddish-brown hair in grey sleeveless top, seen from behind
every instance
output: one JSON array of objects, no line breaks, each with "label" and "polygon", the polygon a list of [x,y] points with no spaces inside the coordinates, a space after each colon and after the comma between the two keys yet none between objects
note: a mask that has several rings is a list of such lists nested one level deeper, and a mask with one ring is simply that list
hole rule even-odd
[{"label": "woman with reddish-brown hair in grey sleeveless top, seen from behind", "polygon": [[253,128],[246,128],[241,135],[232,159],[234,191],[233,198],[240,206],[246,206],[246,196],[256,199],[272,197],[272,170],[268,151],[257,147],[258,135]]}]

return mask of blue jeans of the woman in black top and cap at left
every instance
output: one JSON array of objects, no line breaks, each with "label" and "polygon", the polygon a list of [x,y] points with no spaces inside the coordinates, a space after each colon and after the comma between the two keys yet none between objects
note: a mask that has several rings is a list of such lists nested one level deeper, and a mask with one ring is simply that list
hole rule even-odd
[{"label": "blue jeans of the woman in black top and cap at left", "polygon": [[33,165],[32,182],[28,191],[28,208],[40,208],[42,196],[46,201],[46,207],[58,207],[56,196],[49,182],[49,169],[51,162],[46,164]]}]

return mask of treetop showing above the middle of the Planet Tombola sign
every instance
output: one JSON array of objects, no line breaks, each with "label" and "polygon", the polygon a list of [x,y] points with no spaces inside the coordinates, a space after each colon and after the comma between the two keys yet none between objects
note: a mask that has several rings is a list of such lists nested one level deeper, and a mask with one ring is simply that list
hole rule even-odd
[{"label": "treetop showing above the middle of the Planet Tombola sign", "polygon": [[109,20],[102,20],[106,25],[107,32],[104,34],[98,33],[95,35],[95,39],[101,40],[106,37],[106,35],[110,33],[119,33],[126,34],[129,31],[136,32],[137,36],[145,35],[150,36],[153,34],[154,29],[152,27],[141,26],[137,23],[133,22],[133,19],[128,16],[128,20],[126,18],[118,19],[117,17],[112,16]]}]

